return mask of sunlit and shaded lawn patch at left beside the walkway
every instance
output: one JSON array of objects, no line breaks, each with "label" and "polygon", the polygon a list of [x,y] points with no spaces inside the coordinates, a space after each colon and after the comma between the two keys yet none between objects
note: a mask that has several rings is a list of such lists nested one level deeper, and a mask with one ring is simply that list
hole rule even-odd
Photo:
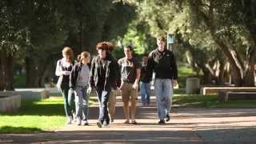
[{"label": "sunlit and shaded lawn patch at left beside the walkway", "polygon": [[53,131],[66,122],[62,98],[22,102],[21,110],[0,114],[0,133],[5,134]]}]

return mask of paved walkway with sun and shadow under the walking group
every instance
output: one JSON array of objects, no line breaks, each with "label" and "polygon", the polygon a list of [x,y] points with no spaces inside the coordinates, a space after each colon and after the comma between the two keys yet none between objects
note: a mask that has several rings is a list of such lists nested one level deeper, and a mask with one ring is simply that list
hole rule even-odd
[{"label": "paved walkway with sun and shadow under the walking group", "polygon": [[[140,104],[138,104],[140,105]],[[158,125],[155,102],[138,106],[138,125],[122,124],[118,97],[110,126],[95,125],[98,107],[90,108],[90,126],[65,126],[53,133],[1,134],[0,143],[256,143],[256,109],[176,108]]]}]

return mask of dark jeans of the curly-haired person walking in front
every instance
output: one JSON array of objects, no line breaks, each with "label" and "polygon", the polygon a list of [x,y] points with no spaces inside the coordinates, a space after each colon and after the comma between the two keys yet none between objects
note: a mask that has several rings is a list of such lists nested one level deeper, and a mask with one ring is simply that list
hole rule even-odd
[{"label": "dark jeans of the curly-haired person walking in front", "polygon": [[98,103],[99,103],[98,122],[103,123],[105,121],[107,124],[109,124],[110,117],[109,117],[109,111],[107,110],[107,105],[109,101],[110,90],[107,91],[106,95],[103,95],[102,91],[103,91],[102,87],[96,87],[96,93],[98,95]]}]

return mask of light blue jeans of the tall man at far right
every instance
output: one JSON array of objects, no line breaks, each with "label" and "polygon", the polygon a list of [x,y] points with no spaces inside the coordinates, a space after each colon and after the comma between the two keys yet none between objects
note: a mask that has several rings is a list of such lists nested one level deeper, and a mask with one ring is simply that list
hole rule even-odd
[{"label": "light blue jeans of the tall man at far right", "polygon": [[158,103],[158,118],[163,120],[166,118],[166,114],[169,114],[171,108],[173,96],[171,80],[156,78],[154,80],[154,92]]}]

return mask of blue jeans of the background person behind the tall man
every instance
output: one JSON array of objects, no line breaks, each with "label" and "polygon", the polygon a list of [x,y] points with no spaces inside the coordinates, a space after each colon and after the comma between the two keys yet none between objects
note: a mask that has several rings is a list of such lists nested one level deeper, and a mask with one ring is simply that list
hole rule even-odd
[{"label": "blue jeans of the background person behind the tall man", "polygon": [[150,83],[141,82],[142,104],[150,104]]}]

